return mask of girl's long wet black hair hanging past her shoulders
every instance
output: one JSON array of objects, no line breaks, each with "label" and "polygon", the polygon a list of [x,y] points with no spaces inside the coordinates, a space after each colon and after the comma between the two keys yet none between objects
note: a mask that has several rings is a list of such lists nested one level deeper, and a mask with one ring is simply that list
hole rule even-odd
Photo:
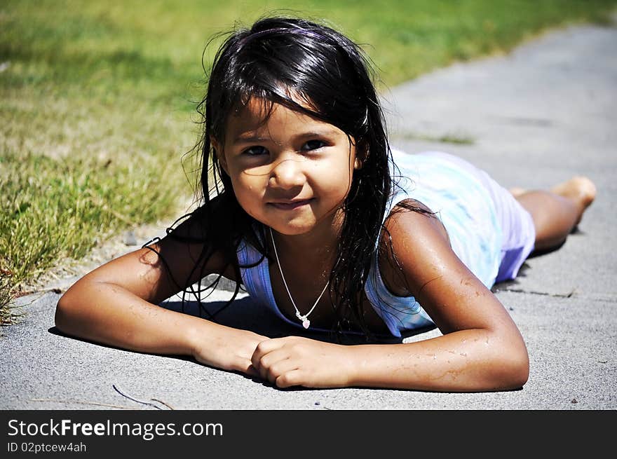
[{"label": "girl's long wet black hair hanging past her shoulders", "polygon": [[[274,104],[280,104],[336,126],[350,142],[354,139],[362,167],[354,171],[343,204],[344,221],[330,274],[337,335],[354,325],[372,335],[362,318],[362,292],[393,187],[386,122],[372,75],[360,46],[331,27],[299,18],[264,18],[226,36],[215,55],[205,98],[198,105],[203,117],[196,147],[202,204],[193,215],[204,221],[208,243],[197,264],[203,266],[215,250],[222,252],[238,280],[236,249],[241,240],[272,259],[265,228],[238,204],[211,137],[224,143],[229,116],[257,98],[266,102],[266,116]],[[226,218],[217,218],[222,213]],[[238,289],[239,282],[229,303]]]}]

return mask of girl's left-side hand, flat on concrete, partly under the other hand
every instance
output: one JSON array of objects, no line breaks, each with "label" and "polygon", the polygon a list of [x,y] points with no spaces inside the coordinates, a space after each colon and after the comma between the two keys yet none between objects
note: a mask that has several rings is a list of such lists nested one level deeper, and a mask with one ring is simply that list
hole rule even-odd
[{"label": "girl's left-side hand, flat on concrete, partly under the other hand", "polygon": [[193,357],[202,364],[259,377],[251,357],[257,345],[268,339],[252,331],[222,327],[196,340]]}]

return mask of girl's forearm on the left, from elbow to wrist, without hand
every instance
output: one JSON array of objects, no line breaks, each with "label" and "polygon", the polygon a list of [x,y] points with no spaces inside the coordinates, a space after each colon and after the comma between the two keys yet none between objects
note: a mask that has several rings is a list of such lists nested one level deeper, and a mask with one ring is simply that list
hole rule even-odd
[{"label": "girl's forearm on the left, from elbow to wrist, without hand", "polygon": [[191,355],[194,337],[217,324],[156,306],[118,285],[80,281],[58,301],[58,329],[139,352]]}]

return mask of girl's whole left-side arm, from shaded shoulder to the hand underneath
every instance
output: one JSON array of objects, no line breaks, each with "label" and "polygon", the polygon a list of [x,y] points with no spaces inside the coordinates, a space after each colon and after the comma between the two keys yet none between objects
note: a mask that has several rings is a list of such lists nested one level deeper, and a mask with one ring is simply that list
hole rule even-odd
[{"label": "girl's whole left-side arm, from shaded shoulder to the hand underneath", "polygon": [[[195,222],[189,219],[177,231],[194,232],[191,224]],[[177,282],[188,279],[191,285],[198,280],[196,274],[189,276],[203,245],[166,236],[151,247]],[[221,273],[224,260],[215,254],[203,268],[205,274]],[[225,274],[233,278],[233,273]],[[178,290],[161,257],[139,249],[72,285],[57,303],[56,327],[90,341],[139,352],[192,355],[204,364],[255,374],[250,357],[266,337],[157,306]]]}]

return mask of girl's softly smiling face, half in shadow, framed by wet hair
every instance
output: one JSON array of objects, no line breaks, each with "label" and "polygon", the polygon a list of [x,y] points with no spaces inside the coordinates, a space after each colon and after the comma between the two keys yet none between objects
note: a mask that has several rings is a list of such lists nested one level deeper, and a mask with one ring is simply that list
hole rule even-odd
[{"label": "girl's softly smiling face, half in shadow, framed by wet hair", "polygon": [[229,117],[224,144],[212,139],[238,203],[287,235],[334,224],[360,165],[354,144],[334,125],[279,104],[264,121],[255,99]]}]

